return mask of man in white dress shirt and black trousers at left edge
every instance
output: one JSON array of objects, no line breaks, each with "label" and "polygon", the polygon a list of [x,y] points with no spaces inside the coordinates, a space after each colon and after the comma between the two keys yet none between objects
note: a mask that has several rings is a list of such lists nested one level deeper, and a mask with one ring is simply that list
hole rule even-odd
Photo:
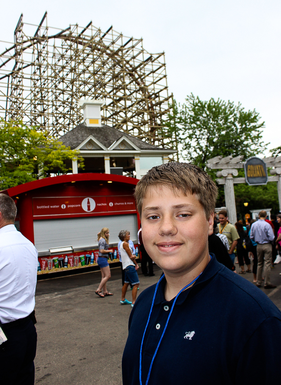
[{"label": "man in white dress shirt and black trousers at left edge", "polygon": [[16,205],[0,194],[0,382],[33,385],[37,333],[35,287],[38,253],[14,226]]}]

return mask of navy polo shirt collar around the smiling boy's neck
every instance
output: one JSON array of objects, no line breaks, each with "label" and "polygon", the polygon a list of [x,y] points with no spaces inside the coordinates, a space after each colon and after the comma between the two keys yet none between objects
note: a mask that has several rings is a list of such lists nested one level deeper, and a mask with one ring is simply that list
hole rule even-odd
[{"label": "navy polo shirt collar around the smiling boy's neck", "polygon": [[[181,305],[185,299],[188,297],[189,293],[191,291],[194,291],[194,288],[200,287],[200,285],[203,284],[203,282],[206,282],[207,280],[213,278],[217,272],[222,268],[222,264],[219,263],[215,257],[215,254],[210,253],[210,256],[212,256],[212,259],[207,264],[205,270],[200,275],[200,277],[197,279],[197,281],[194,283],[194,285],[186,290],[184,290],[180,295],[178,296],[175,305]],[[167,301],[165,299],[165,286],[166,286],[166,277],[164,277],[161,282],[159,283],[158,290],[156,293],[154,304],[160,304],[163,302],[170,302],[173,303],[174,298],[171,301]]]}]

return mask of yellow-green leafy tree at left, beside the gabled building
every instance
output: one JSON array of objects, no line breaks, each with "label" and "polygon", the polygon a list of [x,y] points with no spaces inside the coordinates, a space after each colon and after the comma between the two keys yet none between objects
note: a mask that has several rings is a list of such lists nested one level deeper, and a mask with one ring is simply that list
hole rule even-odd
[{"label": "yellow-green leafy tree at left, beside the gabled building", "polygon": [[67,160],[83,159],[79,151],[65,147],[48,132],[20,122],[0,121],[0,189],[45,177],[54,170],[67,173]]}]

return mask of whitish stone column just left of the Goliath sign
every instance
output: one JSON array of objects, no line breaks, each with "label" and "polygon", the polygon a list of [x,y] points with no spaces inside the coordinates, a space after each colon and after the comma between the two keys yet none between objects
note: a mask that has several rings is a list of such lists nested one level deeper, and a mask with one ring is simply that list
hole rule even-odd
[{"label": "whitish stone column just left of the Goliath sign", "polygon": [[229,222],[232,225],[234,225],[237,222],[233,176],[235,177],[238,176],[238,171],[236,169],[226,169],[226,170],[217,172],[218,178],[221,178],[221,177],[225,178],[225,184],[224,184],[225,206],[227,209]]}]

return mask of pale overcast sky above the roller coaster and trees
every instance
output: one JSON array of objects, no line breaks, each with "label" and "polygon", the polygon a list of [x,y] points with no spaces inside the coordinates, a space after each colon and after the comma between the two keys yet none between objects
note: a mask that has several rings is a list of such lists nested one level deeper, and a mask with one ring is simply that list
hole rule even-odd
[{"label": "pale overcast sky above the roller coaster and trees", "polygon": [[165,51],[169,92],[178,102],[191,92],[202,100],[241,102],[265,121],[269,148],[281,145],[280,1],[2,1],[0,40],[13,41],[21,13],[24,22],[38,24],[45,11],[52,27],[85,27],[92,20],[102,31],[112,25],[143,37],[148,52]]}]

